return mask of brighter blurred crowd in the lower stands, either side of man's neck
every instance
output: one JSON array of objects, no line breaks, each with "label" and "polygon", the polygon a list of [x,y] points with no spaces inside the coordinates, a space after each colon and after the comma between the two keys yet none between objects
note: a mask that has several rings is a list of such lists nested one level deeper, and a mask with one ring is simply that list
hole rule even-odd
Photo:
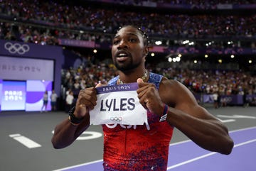
[{"label": "brighter blurred crowd in the lower stands, either side of man's neck", "polygon": [[[146,67],[150,72],[159,73],[169,79],[176,79],[191,89],[193,93],[256,94],[256,76],[250,73],[225,70],[180,70],[172,67],[151,67],[151,65]],[[116,75],[117,70],[112,64],[100,63],[80,66],[77,69],[70,68],[62,72],[63,88],[78,94],[80,89],[94,87],[98,82],[106,84]]]}]

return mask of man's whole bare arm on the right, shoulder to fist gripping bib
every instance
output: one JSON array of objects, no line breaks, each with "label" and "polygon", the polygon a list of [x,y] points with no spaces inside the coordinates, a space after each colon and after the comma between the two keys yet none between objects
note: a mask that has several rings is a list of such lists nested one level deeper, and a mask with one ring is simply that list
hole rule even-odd
[{"label": "man's whole bare arm on the right, shoulder to fist gripping bib", "polygon": [[[141,87],[143,89],[143,85]],[[199,106],[193,94],[183,84],[164,79],[159,87],[159,94],[152,86],[144,87],[144,97],[139,98],[142,101],[146,98],[146,108],[161,115],[164,104],[167,104],[167,121],[171,126],[178,128],[201,148],[223,154],[231,153],[233,140],[228,135],[228,128]]]}]

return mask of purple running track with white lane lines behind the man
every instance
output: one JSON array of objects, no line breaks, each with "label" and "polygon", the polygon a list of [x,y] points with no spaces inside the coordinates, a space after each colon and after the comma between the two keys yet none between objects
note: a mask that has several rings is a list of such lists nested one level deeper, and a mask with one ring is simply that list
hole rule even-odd
[{"label": "purple running track with white lane lines behind the man", "polygon": [[[198,147],[191,140],[174,143],[169,148],[167,170],[171,171],[255,171],[256,127],[231,131],[235,142],[230,155],[213,153]],[[61,171],[102,171],[102,160],[66,167]],[[55,170],[55,171],[60,171]]]}]

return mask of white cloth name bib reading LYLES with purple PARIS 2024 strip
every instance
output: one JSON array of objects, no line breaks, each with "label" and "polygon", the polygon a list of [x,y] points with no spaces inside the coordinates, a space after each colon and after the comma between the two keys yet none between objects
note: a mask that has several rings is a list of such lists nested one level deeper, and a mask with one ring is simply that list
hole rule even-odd
[{"label": "white cloth name bib reading LYLES with purple PARIS 2024 strip", "polygon": [[138,84],[97,87],[97,105],[90,111],[90,124],[148,124],[146,109],[139,103]]}]

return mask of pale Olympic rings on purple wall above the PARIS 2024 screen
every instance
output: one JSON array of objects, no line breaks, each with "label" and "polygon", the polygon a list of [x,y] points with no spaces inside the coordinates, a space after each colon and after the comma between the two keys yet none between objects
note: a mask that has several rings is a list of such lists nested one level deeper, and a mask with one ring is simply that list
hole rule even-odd
[{"label": "pale Olympic rings on purple wall above the PARIS 2024 screen", "polygon": [[27,53],[29,51],[28,45],[21,45],[19,43],[10,43],[7,42],[4,44],[4,48],[9,51],[9,53],[18,53],[19,55],[23,55],[24,53]]}]

